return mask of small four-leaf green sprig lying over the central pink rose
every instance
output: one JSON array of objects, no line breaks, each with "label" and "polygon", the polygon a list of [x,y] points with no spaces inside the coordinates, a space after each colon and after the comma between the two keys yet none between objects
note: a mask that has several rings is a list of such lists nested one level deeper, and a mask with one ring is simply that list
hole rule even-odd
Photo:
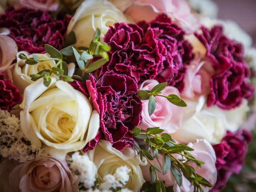
[{"label": "small four-leaf green sprig lying over the central pink rose", "polygon": [[161,91],[167,86],[167,82],[160,83],[152,88],[152,90],[139,90],[138,96],[142,100],[148,101],[148,114],[152,115],[156,109],[157,100],[155,96],[166,98],[169,102],[180,107],[186,107],[187,104],[177,95],[170,94],[168,96],[162,95]]}]

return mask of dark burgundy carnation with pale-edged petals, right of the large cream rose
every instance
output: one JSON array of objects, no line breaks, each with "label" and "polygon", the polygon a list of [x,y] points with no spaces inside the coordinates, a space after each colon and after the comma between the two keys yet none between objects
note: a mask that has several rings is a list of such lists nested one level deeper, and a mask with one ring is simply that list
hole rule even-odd
[{"label": "dark burgundy carnation with pale-edged petals, right of the large cream rose", "polygon": [[108,72],[97,82],[93,78],[82,82],[74,81],[71,85],[91,97],[94,109],[100,114],[100,132],[89,142],[84,151],[92,150],[100,138],[108,140],[118,150],[133,146],[134,139],[130,134],[141,120],[142,103],[136,92],[136,82],[121,74]]}]

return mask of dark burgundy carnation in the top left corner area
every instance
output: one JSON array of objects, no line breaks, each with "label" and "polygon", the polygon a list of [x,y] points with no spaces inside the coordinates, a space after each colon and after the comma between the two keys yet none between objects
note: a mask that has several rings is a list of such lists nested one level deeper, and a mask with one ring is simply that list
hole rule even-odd
[{"label": "dark burgundy carnation in the top left corner area", "polygon": [[15,40],[19,51],[42,53],[44,44],[62,48],[70,19],[71,16],[58,14],[53,20],[50,12],[10,7],[0,16],[0,27],[9,28],[9,36]]}]

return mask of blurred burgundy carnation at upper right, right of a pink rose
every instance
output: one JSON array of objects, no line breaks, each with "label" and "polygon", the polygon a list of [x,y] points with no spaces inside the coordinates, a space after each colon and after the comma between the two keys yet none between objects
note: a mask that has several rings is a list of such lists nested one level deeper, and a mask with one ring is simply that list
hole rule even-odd
[{"label": "blurred burgundy carnation at upper right, right of a pink rose", "polygon": [[214,26],[211,30],[202,26],[202,34],[195,35],[206,47],[205,60],[214,68],[207,105],[231,109],[239,106],[243,98],[250,99],[254,88],[248,82],[250,70],[242,45],[228,39],[221,26]]}]

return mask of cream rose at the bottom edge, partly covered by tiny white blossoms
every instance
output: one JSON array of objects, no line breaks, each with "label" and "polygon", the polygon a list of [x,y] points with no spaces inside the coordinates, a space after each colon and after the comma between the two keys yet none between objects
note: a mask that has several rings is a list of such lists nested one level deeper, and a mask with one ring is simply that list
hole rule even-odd
[{"label": "cream rose at the bottom edge, partly covered by tiny white blossoms", "polygon": [[130,178],[128,183],[124,188],[128,188],[134,192],[140,191],[145,181],[139,162],[136,159],[136,153],[132,148],[127,147],[120,152],[112,148],[110,142],[101,140],[94,150],[87,153],[98,168],[97,177],[100,182],[103,181],[104,176],[107,174],[113,175],[117,168],[127,166],[131,171],[129,172]]}]

